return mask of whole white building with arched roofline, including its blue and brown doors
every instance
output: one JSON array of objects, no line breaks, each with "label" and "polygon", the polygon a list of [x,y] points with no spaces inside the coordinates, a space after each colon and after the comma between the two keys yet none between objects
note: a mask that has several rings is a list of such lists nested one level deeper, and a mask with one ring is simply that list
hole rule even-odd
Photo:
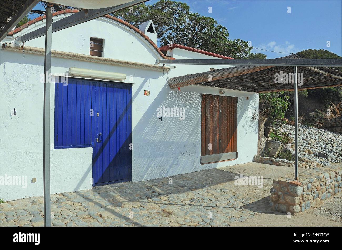
[{"label": "whole white building with arched roofline, including its blue and brown doors", "polygon": [[[75,11],[65,12],[57,12],[53,19]],[[38,17],[1,41],[0,198],[4,200],[43,195],[45,38],[26,42],[24,51],[16,38],[44,26],[45,19]],[[72,77],[67,84],[51,84],[52,194],[253,160],[258,94],[228,89],[220,94],[219,88],[201,85],[172,90],[167,83],[172,77],[227,66],[157,66],[156,60],[169,57],[156,44],[152,21],[139,31],[108,15],[53,33],[51,73]],[[179,45],[161,49],[176,59],[228,59]],[[236,98],[231,97],[237,97],[236,108]],[[202,99],[207,108],[213,106],[211,112],[206,113]],[[229,109],[221,108],[220,100],[228,100]],[[209,117],[216,111],[218,120]],[[227,114],[228,125],[220,113]],[[221,123],[224,128],[218,131]],[[25,177],[27,185],[10,182],[25,182]]]}]

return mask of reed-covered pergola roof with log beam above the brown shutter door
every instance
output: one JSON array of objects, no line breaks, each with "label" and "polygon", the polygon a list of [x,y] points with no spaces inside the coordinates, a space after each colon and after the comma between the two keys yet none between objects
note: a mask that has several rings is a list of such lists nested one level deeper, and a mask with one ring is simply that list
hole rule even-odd
[{"label": "reed-covered pergola roof with log beam above the brown shutter door", "polygon": [[[282,59],[297,59],[289,55]],[[280,58],[279,58],[280,59]],[[303,80],[298,90],[342,86],[342,71],[330,67],[297,67]],[[294,90],[293,81],[276,82],[276,74],[293,74],[292,66],[236,66],[171,78],[171,89],[188,85],[203,85],[255,93]],[[302,78],[301,78],[302,77]]]}]

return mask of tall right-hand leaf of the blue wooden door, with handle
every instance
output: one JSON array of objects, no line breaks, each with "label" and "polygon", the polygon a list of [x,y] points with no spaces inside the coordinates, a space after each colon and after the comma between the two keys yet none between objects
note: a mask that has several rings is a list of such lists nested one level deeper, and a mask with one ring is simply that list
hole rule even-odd
[{"label": "tall right-hand leaf of the blue wooden door, with handle", "polygon": [[95,92],[94,186],[131,180],[131,85],[98,82]]}]

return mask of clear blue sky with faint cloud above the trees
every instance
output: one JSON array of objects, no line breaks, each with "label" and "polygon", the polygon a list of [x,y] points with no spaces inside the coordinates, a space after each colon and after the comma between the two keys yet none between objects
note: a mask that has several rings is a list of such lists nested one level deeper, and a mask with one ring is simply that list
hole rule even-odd
[{"label": "clear blue sky with faint cloud above the trees", "polygon": [[[190,11],[213,17],[227,27],[230,39],[251,41],[254,48],[286,53],[323,49],[342,56],[341,0],[178,1],[187,3]],[[289,7],[291,13],[288,13]],[[328,41],[330,47],[327,47]],[[266,54],[267,58],[288,55],[259,49],[252,52]]]}]

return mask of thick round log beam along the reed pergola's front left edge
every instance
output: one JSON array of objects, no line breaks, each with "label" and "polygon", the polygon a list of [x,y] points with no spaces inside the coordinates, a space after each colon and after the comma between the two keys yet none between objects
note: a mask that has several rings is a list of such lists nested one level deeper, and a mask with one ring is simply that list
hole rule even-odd
[{"label": "thick round log beam along the reed pergola's front left edge", "polygon": [[272,67],[274,66],[241,66],[238,70],[236,70],[236,67],[216,69],[187,76],[173,77],[168,81],[168,84],[171,89],[176,89],[200,82],[211,82],[228,77],[241,76]]}]

